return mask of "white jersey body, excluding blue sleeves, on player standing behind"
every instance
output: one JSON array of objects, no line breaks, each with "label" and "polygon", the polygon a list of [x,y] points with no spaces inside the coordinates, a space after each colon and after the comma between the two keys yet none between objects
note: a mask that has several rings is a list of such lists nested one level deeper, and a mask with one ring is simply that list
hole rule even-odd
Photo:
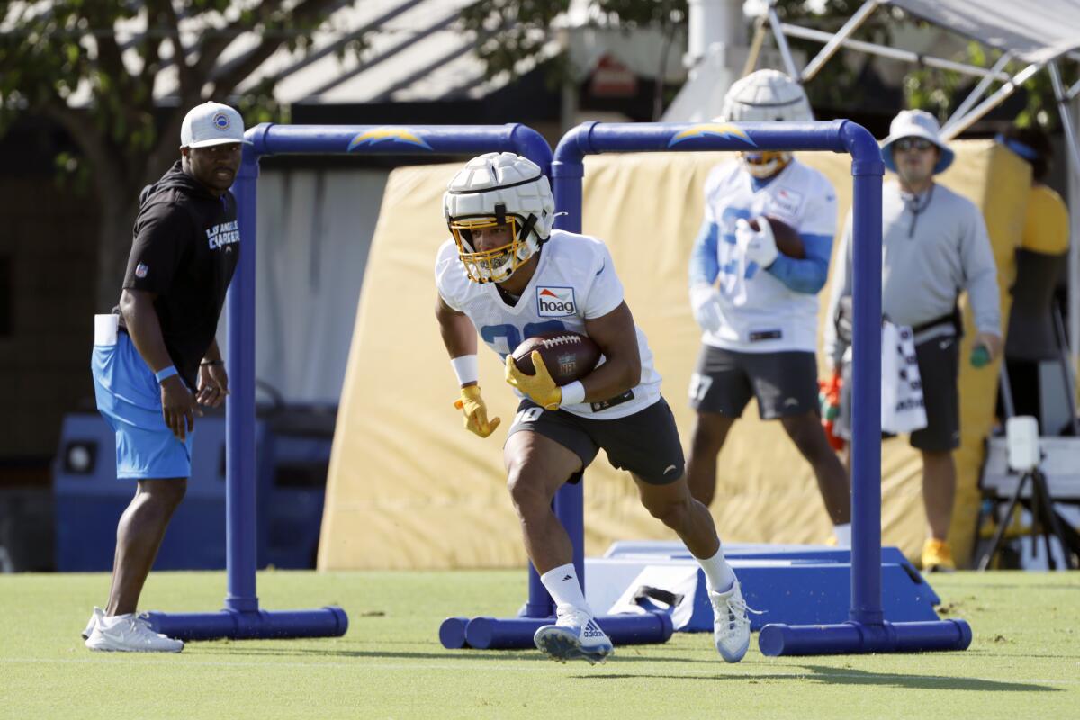
[{"label": "white jersey body, excluding blue sleeves, on player standing behind", "polygon": [[739,161],[710,173],[705,220],[717,228],[716,286],[724,325],[716,332],[705,332],[702,341],[738,352],[814,352],[818,296],[792,290],[737,249],[735,221],[762,215],[784,221],[801,235],[827,236],[832,247],[836,192],[824,175],[797,160],[757,190]]}]

